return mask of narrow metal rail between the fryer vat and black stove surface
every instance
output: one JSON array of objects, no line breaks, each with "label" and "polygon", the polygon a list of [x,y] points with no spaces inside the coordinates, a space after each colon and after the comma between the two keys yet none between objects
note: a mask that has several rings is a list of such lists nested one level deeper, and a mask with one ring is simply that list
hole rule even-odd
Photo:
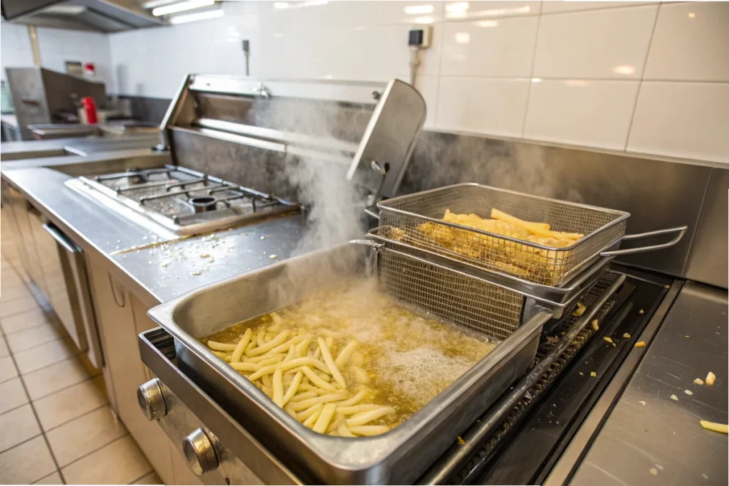
[{"label": "narrow metal rail between the fryer vat and black stove surface", "polygon": [[550,367],[550,364],[564,351],[567,346],[572,343],[574,337],[585,329],[585,326],[593,320],[596,313],[599,312],[601,307],[607,302],[607,300],[615,294],[615,291],[623,285],[625,282],[625,275],[620,275],[614,283],[605,291],[605,293],[596,300],[596,302],[580,317],[580,320],[574,324],[572,329],[565,334],[564,338],[561,339],[555,346],[553,353],[550,353],[549,358],[545,358],[539,361],[537,365],[531,369],[528,375],[523,377],[512,391],[502,396],[494,407],[488,409],[488,412],[482,416],[480,420],[477,420],[476,426],[470,428],[468,433],[463,436],[465,444],[459,446],[455,454],[444,456],[441,460],[434,463],[429,471],[418,481],[418,485],[441,485],[447,482],[448,477],[453,474],[464,460],[467,460],[470,455],[475,451],[476,447],[480,447],[483,440],[486,439],[494,428],[499,425],[501,420],[506,413],[508,413],[514,404],[521,399],[526,391],[531,388],[534,383],[539,380],[544,372]]}]

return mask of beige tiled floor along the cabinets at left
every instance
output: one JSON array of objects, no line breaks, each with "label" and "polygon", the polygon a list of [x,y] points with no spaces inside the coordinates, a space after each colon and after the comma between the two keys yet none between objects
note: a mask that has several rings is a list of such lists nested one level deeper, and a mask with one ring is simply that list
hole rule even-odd
[{"label": "beige tiled floor along the cabinets at left", "polygon": [[16,271],[0,208],[0,485],[161,485],[104,377]]}]

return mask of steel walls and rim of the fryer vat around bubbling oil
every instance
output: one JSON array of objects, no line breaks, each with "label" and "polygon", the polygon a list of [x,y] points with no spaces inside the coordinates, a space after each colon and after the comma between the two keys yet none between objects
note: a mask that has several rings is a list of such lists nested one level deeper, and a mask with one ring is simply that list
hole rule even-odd
[{"label": "steel walls and rim of the fryer vat around bubbling oil", "polygon": [[[408,271],[403,271],[403,265]],[[316,271],[321,268],[332,272]],[[284,282],[291,283],[291,275],[303,278],[286,286],[286,292],[269,291]],[[230,323],[295,303],[311,291],[347,275],[377,275],[383,289],[399,302],[422,306],[452,325],[467,326],[486,334],[499,345],[388,434],[347,440],[316,434],[302,426],[196,339]],[[539,333],[550,313],[542,310],[519,326],[518,302],[513,303],[514,312],[509,316],[494,312],[499,300],[509,298],[502,290],[364,241],[288,259],[207,286],[155,307],[149,315],[174,337],[177,364],[188,379],[215,396],[240,426],[286,464],[286,468],[276,471],[276,476],[286,477],[288,469],[297,471],[303,482],[405,484],[424,471],[533,360]],[[437,298],[432,299],[433,295]],[[468,304],[461,305],[464,301]],[[145,354],[143,350],[143,361],[157,374]],[[165,383],[165,373],[158,376]],[[186,404],[190,398],[179,396]],[[143,391],[140,404],[147,406]],[[150,414],[160,418],[161,424],[165,419],[160,415],[164,414],[159,410],[157,415]],[[213,427],[215,423],[215,420],[208,423],[212,417],[207,415],[198,418],[205,426]],[[163,428],[168,431],[167,426]],[[179,431],[168,434],[176,439]],[[218,432],[213,434],[217,436]],[[230,438],[220,439],[226,446],[235,447]],[[246,438],[239,437],[238,443],[243,440]],[[254,455],[238,455],[238,458],[258,477],[267,481],[273,477],[265,474],[270,473],[267,469],[273,461],[259,460]],[[233,474],[240,477],[238,471]]]}]

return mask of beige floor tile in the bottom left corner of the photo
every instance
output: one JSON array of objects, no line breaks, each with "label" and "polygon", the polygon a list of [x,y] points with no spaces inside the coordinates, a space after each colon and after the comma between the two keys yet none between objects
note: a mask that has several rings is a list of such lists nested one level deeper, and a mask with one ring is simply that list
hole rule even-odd
[{"label": "beige floor tile in the bottom left corner of the photo", "polygon": [[43,437],[0,454],[0,485],[29,485],[55,471],[55,463]]}]

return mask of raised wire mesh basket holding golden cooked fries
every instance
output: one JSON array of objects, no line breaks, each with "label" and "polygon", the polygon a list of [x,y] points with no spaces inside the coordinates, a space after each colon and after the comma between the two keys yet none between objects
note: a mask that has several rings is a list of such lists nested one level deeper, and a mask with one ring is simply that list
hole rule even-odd
[{"label": "raised wire mesh basket holding golden cooked fries", "polygon": [[[498,273],[560,286],[623,235],[629,213],[507,191],[480,184],[394,197],[378,204],[389,238]],[[558,248],[443,221],[446,210],[488,219],[491,209],[546,222],[552,230],[585,235]]]}]

